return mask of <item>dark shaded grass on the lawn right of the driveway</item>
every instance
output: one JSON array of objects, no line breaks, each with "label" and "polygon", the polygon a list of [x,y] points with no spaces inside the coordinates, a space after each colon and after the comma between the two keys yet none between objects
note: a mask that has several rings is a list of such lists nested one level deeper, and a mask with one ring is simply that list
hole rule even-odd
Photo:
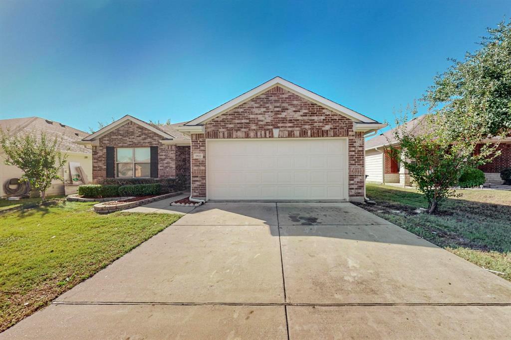
[{"label": "dark shaded grass on the lawn right of the driveway", "polygon": [[[478,194],[477,192],[470,192]],[[481,191],[478,199],[502,199]],[[486,203],[464,198],[449,198],[436,214],[416,213],[417,207],[427,207],[422,193],[378,187],[369,189],[368,196],[376,205],[362,208],[402,225],[440,247],[464,247],[480,251],[509,252],[511,244],[511,204]],[[510,195],[511,197],[511,195]]]}]

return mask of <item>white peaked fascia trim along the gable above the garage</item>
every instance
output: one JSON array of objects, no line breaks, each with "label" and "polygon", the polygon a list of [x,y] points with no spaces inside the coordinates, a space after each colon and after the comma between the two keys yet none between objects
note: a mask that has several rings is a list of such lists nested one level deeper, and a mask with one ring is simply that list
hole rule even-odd
[{"label": "white peaked fascia trim along the gable above the garage", "polygon": [[313,103],[316,103],[320,106],[326,107],[327,109],[330,109],[334,112],[337,112],[343,116],[346,116],[350,119],[355,120],[355,122],[362,122],[362,123],[378,123],[376,120],[371,119],[369,117],[364,116],[363,114],[360,114],[358,112],[355,112],[345,106],[342,106],[340,104],[337,104],[335,102],[332,102],[329,99],[326,99],[319,94],[316,94],[314,92],[311,92],[303,87],[300,87],[296,84],[293,84],[285,79],[282,79],[281,77],[275,77],[266,83],[259,85],[256,88],[251,89],[248,92],[243,93],[242,95],[237,96],[235,99],[228,101],[225,104],[220,105],[216,109],[213,109],[209,112],[204,113],[203,115],[191,120],[185,126],[194,126],[194,125],[200,125],[206,123],[208,120],[211,120],[222,113],[241,105],[250,99],[258,96],[259,94],[266,92],[267,90],[271,89],[275,86],[281,86],[284,89],[293,92]]}]

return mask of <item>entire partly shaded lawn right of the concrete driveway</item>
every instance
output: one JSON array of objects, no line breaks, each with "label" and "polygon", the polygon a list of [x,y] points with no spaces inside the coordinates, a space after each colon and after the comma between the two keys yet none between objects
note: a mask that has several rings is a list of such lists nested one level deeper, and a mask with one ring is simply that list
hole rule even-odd
[{"label": "entire partly shaded lawn right of the concrete driveway", "polygon": [[[511,281],[511,191],[458,190],[439,214],[417,214],[427,208],[414,189],[367,184],[367,197],[376,205],[361,205],[385,220],[485,269],[505,273]],[[399,211],[399,212],[398,212]]]}]

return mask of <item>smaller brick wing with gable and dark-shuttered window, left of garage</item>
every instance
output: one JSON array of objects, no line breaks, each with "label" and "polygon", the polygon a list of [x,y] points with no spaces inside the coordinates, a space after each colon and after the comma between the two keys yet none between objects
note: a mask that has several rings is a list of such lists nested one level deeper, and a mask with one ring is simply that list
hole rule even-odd
[{"label": "smaller brick wing with gable and dark-shuttered window, left of garage", "polygon": [[92,180],[177,178],[190,181],[190,137],[177,125],[155,126],[126,115],[77,143],[92,147]]}]

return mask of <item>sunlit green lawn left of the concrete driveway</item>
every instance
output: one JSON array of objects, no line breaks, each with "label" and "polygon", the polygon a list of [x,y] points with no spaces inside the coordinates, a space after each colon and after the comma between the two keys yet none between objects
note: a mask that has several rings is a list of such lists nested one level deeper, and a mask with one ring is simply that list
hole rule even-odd
[{"label": "sunlit green lawn left of the concrete driveway", "polygon": [[0,331],[178,220],[54,200],[0,213]]}]

